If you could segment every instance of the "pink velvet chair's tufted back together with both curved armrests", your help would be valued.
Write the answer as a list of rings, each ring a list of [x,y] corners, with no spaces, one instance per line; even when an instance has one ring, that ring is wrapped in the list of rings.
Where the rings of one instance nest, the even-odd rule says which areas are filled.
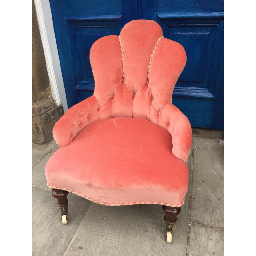
[[[60,147],[86,125],[105,118],[144,118],[172,136],[172,154],[186,162],[191,147],[188,118],[171,104],[173,88],[186,64],[184,48],[163,37],[153,20],[133,20],[120,36],[98,39],[91,48],[94,95],[68,109],[55,124]]]

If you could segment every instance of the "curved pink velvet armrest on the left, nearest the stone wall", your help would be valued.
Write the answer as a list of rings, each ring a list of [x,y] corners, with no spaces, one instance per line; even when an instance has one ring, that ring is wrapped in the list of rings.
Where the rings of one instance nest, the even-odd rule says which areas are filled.
[[[79,102],[59,119],[53,127],[53,138],[60,148],[65,147],[86,125],[99,119],[98,102],[94,95]]]

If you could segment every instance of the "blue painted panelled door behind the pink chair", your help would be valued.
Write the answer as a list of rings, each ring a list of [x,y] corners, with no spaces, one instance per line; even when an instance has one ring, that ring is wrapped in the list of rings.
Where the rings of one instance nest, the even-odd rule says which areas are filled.
[[[223,130],[223,0],[50,0],[50,5],[69,108],[93,94],[92,44],[119,35],[131,20],[150,19],[187,52],[173,104],[193,127]]]

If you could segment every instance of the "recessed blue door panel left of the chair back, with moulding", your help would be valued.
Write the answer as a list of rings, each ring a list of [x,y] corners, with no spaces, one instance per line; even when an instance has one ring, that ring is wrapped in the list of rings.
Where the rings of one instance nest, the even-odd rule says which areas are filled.
[[[94,79],[89,60],[92,44],[102,36],[118,35],[122,28],[121,15],[65,17],[68,44],[74,71],[76,91],[93,91]]]

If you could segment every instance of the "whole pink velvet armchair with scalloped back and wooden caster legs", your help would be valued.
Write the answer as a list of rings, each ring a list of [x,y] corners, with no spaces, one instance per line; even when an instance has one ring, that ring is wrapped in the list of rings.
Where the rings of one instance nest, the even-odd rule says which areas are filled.
[[[159,204],[171,242],[192,141],[188,118],[171,103],[185,50],[155,21],[133,20],[120,36],[98,39],[90,62],[94,94],[55,124],[60,149],[45,167],[62,223],[69,192],[107,206]]]

